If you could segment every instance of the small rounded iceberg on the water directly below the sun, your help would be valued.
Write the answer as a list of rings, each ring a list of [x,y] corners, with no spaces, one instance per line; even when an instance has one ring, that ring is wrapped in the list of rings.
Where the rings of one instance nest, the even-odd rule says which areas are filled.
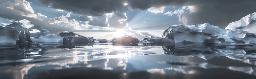
[[[117,44],[134,44],[134,43],[138,43],[138,39],[135,37],[131,37],[129,35],[125,35],[123,37],[119,37],[119,38],[113,38],[113,43],[117,43]]]

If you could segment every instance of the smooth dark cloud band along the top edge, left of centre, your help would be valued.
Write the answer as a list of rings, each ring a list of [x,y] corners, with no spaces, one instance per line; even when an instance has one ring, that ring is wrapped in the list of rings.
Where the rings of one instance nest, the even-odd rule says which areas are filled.
[[[124,6],[124,0],[38,0],[38,2],[55,9],[94,16],[115,11],[128,11]]]

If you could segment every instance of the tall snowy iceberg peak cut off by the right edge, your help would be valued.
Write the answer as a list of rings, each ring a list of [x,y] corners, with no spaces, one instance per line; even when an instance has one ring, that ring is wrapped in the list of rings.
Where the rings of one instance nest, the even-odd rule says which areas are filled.
[[[225,29],[241,29],[243,31],[256,33],[256,12],[230,23]]]

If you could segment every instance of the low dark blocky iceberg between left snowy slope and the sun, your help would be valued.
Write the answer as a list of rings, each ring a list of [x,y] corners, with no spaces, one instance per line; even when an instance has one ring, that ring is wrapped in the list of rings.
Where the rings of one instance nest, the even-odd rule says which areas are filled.
[[[65,31],[58,34],[58,36],[63,38],[63,43],[65,42],[93,42],[92,38],[87,38],[73,32]]]

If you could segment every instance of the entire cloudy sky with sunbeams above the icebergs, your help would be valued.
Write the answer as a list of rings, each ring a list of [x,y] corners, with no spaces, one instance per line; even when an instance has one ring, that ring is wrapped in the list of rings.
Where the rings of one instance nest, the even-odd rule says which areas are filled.
[[[0,16],[27,19],[58,34],[112,39],[161,37],[171,25],[225,28],[256,12],[256,0],[0,0]]]

